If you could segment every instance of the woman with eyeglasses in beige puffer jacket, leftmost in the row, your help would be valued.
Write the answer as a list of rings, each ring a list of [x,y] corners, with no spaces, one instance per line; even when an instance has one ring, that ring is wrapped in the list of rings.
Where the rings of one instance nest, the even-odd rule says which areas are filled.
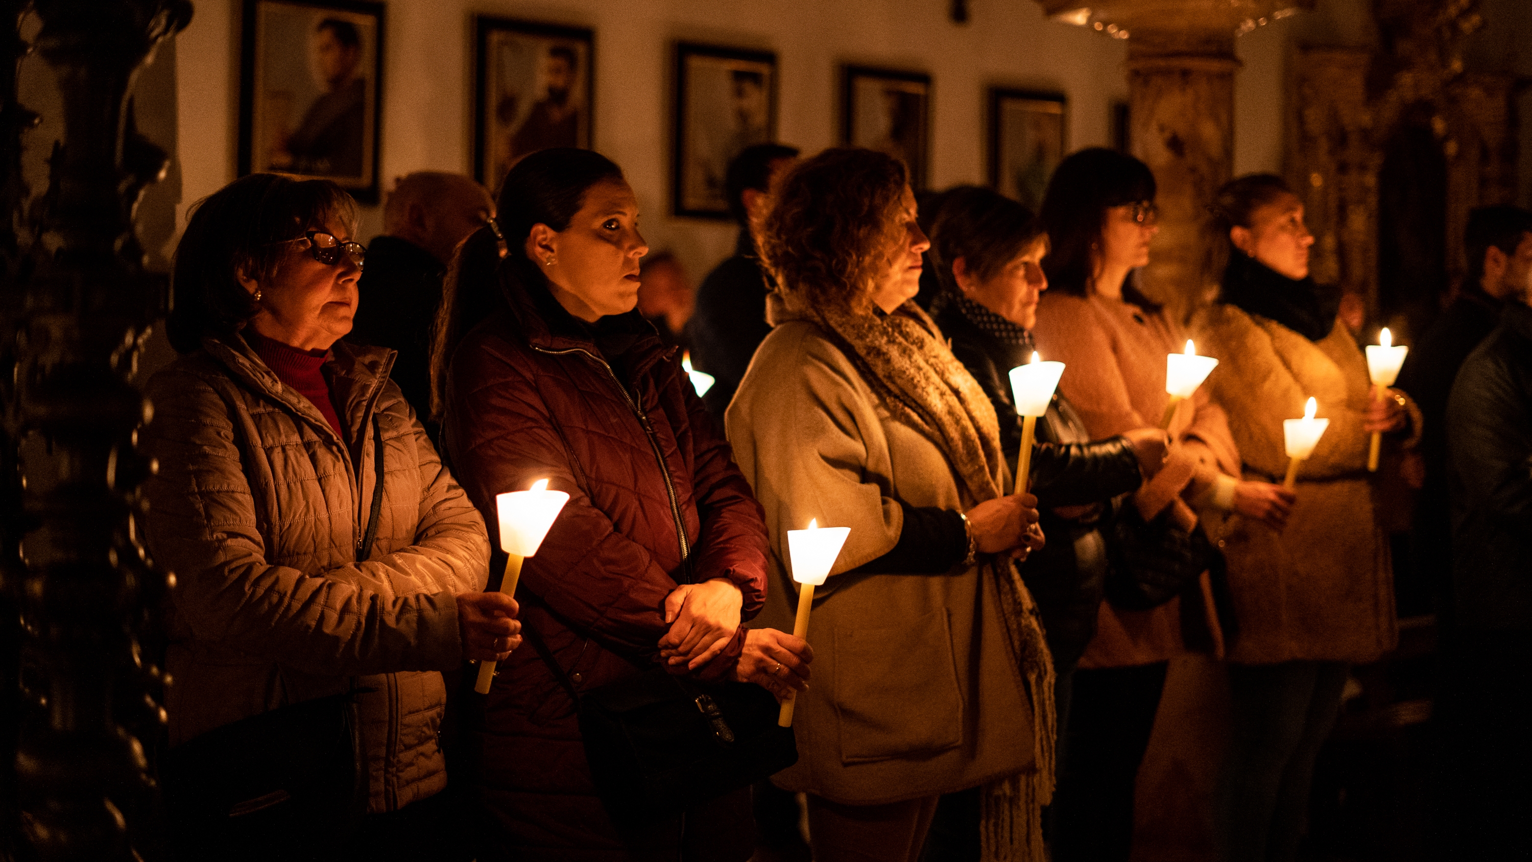
[[[394,351],[339,341],[366,254],[355,225],[336,184],[260,173],[198,204],[176,248],[181,357],[147,387],[159,472],[144,522],[176,576],[167,762],[179,766],[162,778],[185,859],[461,857],[437,828],[440,671],[506,660],[521,642],[516,603],[483,593],[483,519],[389,381]],[[178,758],[237,755],[207,753],[208,740],[296,756],[299,736],[325,729],[273,740],[273,721],[348,692],[360,740],[322,753],[357,764],[365,811],[320,793],[332,821],[316,822],[305,782],[230,805],[221,795],[239,776]],[[351,816],[358,831],[343,828]]]

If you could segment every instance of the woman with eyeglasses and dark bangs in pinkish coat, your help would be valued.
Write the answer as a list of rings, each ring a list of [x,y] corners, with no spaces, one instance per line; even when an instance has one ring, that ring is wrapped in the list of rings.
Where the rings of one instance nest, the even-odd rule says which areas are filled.
[[[1158,233],[1155,181],[1141,161],[1105,149],[1071,155],[1054,171],[1042,220],[1052,250],[1049,289],[1033,334],[1043,358],[1066,364],[1059,392],[1091,438],[1155,426],[1169,397],[1166,354],[1187,334],[1132,283]],[[1204,392],[1170,421],[1166,462],[1123,504],[1149,530],[1200,530],[1200,516],[1236,510],[1279,528],[1293,496],[1239,481],[1239,455],[1223,410]],[[1216,536],[1213,536],[1216,539]],[[1114,573],[1134,577],[1137,573]],[[1170,658],[1218,654],[1223,632],[1204,573],[1152,609],[1102,602],[1097,631],[1074,675],[1069,726],[1054,796],[1054,859],[1129,856],[1134,782],[1154,729]]]

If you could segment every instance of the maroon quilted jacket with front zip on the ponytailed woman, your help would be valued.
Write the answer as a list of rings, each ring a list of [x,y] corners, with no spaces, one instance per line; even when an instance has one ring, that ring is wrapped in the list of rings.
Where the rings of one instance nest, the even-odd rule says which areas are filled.
[[[665,597],[688,565],[691,580],[737,583],[752,619],[766,589],[763,513],[674,349],[636,312],[587,326],[544,288],[506,297],[453,354],[443,449],[489,525],[492,579],[504,565],[495,495],[542,478],[570,493],[521,570],[524,623],[588,691],[651,666],[669,628]],[[699,675],[732,671],[741,646],[743,628]],[[466,724],[469,769],[453,775],[478,804],[480,859],[627,859],[594,796],[574,704],[530,642]],[[748,822],[708,827],[751,833]]]

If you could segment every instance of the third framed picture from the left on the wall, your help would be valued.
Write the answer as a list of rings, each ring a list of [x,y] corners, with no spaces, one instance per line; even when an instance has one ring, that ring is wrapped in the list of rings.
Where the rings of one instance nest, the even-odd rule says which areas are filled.
[[[777,55],[709,44],[676,46],[677,216],[728,219],[723,181],[740,150],[777,138]]]

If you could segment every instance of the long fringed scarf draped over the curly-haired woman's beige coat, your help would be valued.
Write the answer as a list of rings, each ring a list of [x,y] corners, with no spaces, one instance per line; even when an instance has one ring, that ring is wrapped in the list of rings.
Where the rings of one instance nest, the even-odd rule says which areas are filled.
[[[807,320],[835,340],[901,423],[935,442],[974,502],[999,498],[1005,481],[999,423],[988,397],[951,351],[936,323],[913,302],[893,311],[813,305],[778,289],[766,300],[775,326]],[[1013,669],[1026,687],[1036,727],[1037,770],[988,784],[982,796],[984,862],[1045,862],[1042,807],[1054,787],[1054,671],[1042,620],[1013,565],[990,563]]]

